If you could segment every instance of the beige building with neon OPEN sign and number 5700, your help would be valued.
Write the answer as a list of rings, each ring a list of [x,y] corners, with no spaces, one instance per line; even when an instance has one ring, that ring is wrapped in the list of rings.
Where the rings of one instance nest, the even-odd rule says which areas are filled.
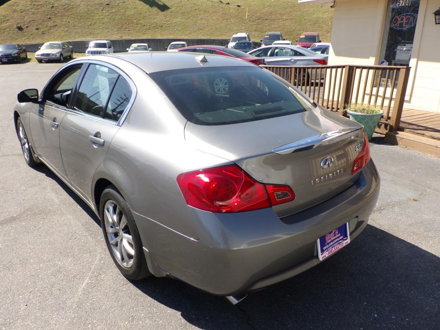
[[[440,0],[299,2],[334,7],[329,65],[411,66],[405,107],[440,112]]]

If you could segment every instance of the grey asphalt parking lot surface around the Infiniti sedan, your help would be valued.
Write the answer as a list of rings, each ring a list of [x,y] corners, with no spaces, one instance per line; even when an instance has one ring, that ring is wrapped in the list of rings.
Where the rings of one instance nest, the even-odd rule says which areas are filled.
[[[438,329],[440,159],[375,138],[381,195],[348,246],[238,305],[182,282],[129,282],[99,219],[23,160],[12,110],[61,63],[0,65],[0,329]]]

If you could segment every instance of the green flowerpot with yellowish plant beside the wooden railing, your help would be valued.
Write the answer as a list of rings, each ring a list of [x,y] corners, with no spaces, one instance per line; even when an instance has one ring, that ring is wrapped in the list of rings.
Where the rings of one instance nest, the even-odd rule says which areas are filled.
[[[381,116],[384,114],[380,106],[365,103],[350,104],[346,106],[345,110],[350,115],[350,119],[363,125],[369,140],[373,136],[374,129],[378,125]]]

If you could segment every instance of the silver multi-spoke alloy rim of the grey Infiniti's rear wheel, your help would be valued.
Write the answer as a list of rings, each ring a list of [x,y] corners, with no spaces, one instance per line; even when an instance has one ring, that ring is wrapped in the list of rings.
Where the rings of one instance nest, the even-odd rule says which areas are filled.
[[[132,267],[135,251],[127,218],[122,209],[111,199],[104,206],[104,224],[117,262],[124,268]]]

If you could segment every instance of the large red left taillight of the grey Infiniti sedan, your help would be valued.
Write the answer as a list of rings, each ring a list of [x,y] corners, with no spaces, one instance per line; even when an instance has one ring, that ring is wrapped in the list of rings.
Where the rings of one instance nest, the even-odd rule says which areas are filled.
[[[188,205],[210,212],[252,211],[295,199],[289,186],[259,183],[237,165],[183,173],[177,184]]]

